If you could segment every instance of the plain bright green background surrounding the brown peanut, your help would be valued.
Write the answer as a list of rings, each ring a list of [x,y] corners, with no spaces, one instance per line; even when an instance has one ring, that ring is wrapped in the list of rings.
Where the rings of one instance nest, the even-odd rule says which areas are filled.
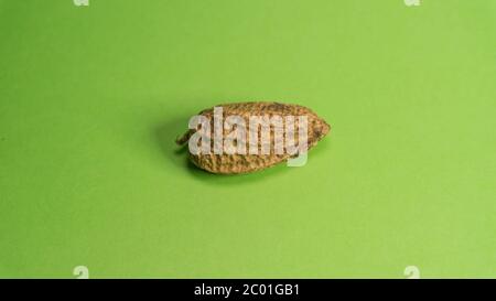
[[[216,176],[218,103],[333,129]],[[0,277],[496,277],[496,1],[0,1]]]

